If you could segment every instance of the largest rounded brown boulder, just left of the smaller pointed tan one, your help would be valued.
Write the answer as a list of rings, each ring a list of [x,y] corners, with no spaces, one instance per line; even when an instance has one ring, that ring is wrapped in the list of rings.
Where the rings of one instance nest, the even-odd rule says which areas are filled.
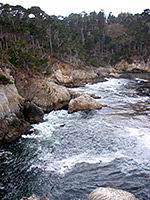
[[[32,102],[44,112],[65,108],[71,99],[67,88],[49,79],[18,74],[16,86],[26,101]]]

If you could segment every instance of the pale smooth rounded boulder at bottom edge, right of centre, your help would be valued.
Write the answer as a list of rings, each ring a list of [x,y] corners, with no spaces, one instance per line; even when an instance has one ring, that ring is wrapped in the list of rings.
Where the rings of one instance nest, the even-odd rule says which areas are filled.
[[[91,192],[87,200],[138,200],[130,192],[114,188],[97,188]]]

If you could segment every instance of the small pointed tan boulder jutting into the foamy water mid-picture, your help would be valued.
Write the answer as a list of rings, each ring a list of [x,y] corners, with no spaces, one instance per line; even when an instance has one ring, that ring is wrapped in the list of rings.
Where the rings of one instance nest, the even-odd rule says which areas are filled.
[[[68,113],[73,113],[80,110],[100,109],[103,105],[87,94],[80,95],[75,99],[71,99],[68,105]]]

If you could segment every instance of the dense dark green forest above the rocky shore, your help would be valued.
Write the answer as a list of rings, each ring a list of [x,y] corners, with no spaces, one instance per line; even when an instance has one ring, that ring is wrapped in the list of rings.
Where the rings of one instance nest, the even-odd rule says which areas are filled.
[[[150,9],[141,14],[49,16],[39,7],[0,3],[0,59],[39,70],[55,59],[74,66],[114,65],[150,56]],[[49,71],[47,71],[48,73]]]

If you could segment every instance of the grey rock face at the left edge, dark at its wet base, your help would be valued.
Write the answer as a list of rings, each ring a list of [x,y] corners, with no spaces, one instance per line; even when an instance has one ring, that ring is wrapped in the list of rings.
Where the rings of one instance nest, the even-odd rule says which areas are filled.
[[[0,85],[0,143],[14,141],[29,127],[22,114],[23,101],[14,84]]]

